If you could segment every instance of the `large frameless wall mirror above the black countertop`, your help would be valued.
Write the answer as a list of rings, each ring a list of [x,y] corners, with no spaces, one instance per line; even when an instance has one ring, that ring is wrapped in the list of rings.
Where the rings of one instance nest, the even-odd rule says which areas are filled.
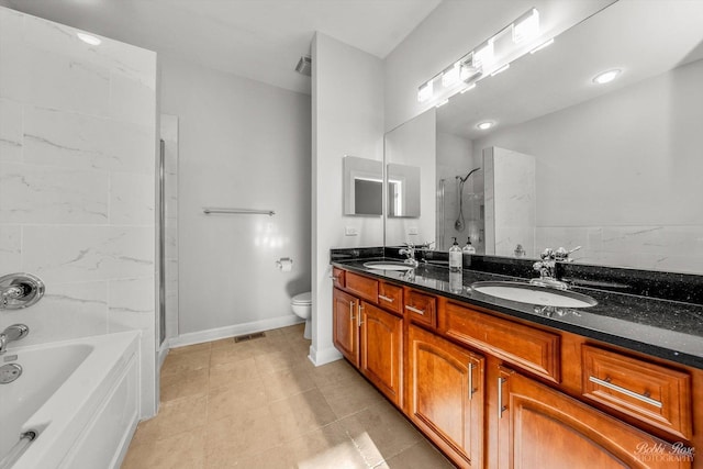
[[[387,219],[386,244],[582,246],[577,263],[703,273],[701,24],[701,1],[617,1],[389,132],[387,163],[419,166],[432,190],[416,230]]]

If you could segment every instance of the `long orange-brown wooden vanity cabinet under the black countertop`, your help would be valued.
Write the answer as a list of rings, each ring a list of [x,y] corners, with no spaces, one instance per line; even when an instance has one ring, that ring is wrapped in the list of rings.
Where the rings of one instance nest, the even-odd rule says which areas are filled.
[[[334,344],[461,468],[703,468],[703,370],[334,267]]]

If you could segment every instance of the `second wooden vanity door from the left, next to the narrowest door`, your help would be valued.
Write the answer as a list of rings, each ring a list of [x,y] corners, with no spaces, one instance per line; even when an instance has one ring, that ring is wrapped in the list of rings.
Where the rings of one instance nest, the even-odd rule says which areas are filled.
[[[361,302],[361,372],[395,405],[401,402],[403,320]]]

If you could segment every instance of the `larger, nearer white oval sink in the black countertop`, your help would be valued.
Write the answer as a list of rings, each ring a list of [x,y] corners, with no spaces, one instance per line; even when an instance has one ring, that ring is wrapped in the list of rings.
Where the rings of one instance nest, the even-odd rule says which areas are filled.
[[[590,308],[598,304],[598,301],[588,294],[538,287],[531,283],[480,281],[471,283],[471,289],[490,297],[502,298],[503,300],[545,306]]]

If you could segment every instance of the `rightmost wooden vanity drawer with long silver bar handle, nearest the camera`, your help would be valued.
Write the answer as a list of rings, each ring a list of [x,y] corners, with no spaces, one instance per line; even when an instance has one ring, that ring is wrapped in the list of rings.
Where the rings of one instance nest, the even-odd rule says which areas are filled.
[[[691,437],[688,373],[590,345],[581,350],[583,397],[678,436]]]

